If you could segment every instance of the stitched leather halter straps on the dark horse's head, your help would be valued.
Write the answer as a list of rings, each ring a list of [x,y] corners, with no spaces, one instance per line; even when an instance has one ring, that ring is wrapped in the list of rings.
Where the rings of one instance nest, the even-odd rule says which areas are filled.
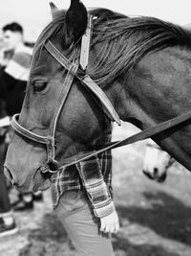
[[[110,103],[109,99],[107,98],[105,93],[98,87],[96,82],[93,81],[83,71],[86,69],[86,66],[88,64],[91,30],[92,30],[92,16],[89,17],[86,33],[82,37],[81,54],[80,54],[79,63],[77,62],[77,60],[74,60],[72,62],[69,59],[65,58],[50,40],[47,40],[44,43],[45,49],[53,56],[53,58],[56,61],[58,61],[68,71],[64,81],[64,85],[62,87],[62,91],[59,95],[59,98],[55,102],[53,118],[50,124],[48,135],[41,136],[21,126],[18,123],[19,114],[15,114],[11,120],[11,127],[14,128],[14,130],[17,131],[20,135],[27,137],[32,141],[45,144],[47,146],[48,164],[51,167],[51,171],[53,172],[57,170],[57,162],[55,161],[55,130],[56,130],[56,126],[57,126],[57,122],[58,122],[61,110],[65,105],[65,102],[70,93],[70,90],[74,81],[74,77],[78,81],[81,81],[81,84],[83,84],[88,90],[91,90],[93,94],[96,95],[98,99],[98,101],[96,100],[97,104],[101,105],[101,108],[103,108],[102,110],[110,118],[110,120],[116,121],[117,124],[120,125],[120,119],[117,115],[117,112],[114,106]]]

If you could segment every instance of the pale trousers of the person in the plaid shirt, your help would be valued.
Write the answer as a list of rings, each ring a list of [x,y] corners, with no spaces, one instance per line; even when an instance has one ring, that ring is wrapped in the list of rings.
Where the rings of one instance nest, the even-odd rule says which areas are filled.
[[[82,191],[67,191],[54,210],[65,227],[78,256],[114,256],[111,239],[99,232],[99,219]]]

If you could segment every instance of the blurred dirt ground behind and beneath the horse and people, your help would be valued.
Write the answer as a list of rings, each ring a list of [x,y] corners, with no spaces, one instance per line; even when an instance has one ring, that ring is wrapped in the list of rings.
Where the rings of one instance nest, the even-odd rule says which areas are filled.
[[[115,139],[138,129],[115,128]],[[113,151],[114,191],[120,231],[116,256],[191,255],[191,174],[172,166],[161,184],[142,175],[145,142]],[[15,193],[15,192],[14,192]],[[0,256],[77,256],[53,215],[50,191],[32,211],[15,213],[18,234],[0,239]]]

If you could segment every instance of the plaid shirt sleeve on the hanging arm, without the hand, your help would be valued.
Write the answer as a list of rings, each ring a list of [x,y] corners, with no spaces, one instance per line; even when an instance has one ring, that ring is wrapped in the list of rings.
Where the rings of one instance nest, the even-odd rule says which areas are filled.
[[[99,159],[94,156],[76,165],[82,184],[97,218],[113,213],[115,205],[101,173]]]

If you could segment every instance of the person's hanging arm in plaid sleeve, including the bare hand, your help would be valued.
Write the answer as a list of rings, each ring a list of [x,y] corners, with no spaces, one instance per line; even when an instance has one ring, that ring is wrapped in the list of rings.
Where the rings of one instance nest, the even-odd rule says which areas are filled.
[[[94,214],[100,219],[100,231],[117,233],[119,228],[117,212],[104,182],[98,157],[80,162],[77,169]]]

